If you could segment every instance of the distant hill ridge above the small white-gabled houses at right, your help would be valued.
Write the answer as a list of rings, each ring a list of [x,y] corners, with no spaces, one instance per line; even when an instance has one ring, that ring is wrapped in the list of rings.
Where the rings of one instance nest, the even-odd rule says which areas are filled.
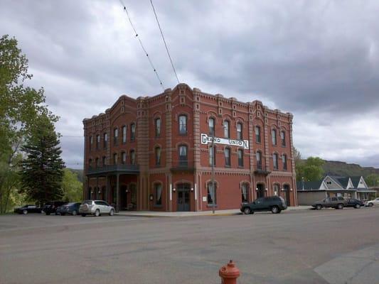
[[[361,167],[357,164],[348,164],[338,160],[325,160],[324,164],[325,175],[338,175],[343,177],[363,176],[366,177],[370,173],[379,175],[379,169],[373,167]]]

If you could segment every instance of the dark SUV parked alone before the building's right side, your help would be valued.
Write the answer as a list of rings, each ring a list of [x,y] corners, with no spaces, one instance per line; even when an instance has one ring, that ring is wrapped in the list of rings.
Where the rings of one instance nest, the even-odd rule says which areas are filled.
[[[242,203],[240,210],[245,214],[253,214],[255,211],[271,211],[273,214],[278,214],[285,209],[287,204],[282,197],[269,196],[258,198],[251,203]]]

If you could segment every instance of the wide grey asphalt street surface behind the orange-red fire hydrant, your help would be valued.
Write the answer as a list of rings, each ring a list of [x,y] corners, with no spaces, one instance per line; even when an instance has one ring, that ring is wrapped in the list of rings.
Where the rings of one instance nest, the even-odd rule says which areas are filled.
[[[0,283],[220,283],[218,269],[229,259],[239,283],[375,283],[378,219],[379,207],[230,217],[5,215]]]

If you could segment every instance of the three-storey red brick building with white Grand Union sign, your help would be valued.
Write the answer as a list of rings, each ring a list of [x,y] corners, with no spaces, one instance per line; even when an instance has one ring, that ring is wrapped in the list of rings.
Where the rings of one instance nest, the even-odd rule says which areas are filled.
[[[85,199],[159,211],[211,210],[213,198],[216,209],[236,209],[269,195],[297,205],[292,114],[260,101],[178,84],[154,97],[123,95],[83,124]]]

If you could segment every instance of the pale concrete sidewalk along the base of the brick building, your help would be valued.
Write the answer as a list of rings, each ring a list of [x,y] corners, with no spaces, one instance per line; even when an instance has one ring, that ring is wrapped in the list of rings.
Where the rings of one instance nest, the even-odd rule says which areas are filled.
[[[292,210],[309,210],[310,206],[288,207],[286,211]],[[233,216],[240,215],[240,209],[216,210],[215,214],[212,211],[197,211],[197,212],[159,212],[159,211],[120,211],[119,216],[139,216],[139,217],[194,217],[194,216]]]

